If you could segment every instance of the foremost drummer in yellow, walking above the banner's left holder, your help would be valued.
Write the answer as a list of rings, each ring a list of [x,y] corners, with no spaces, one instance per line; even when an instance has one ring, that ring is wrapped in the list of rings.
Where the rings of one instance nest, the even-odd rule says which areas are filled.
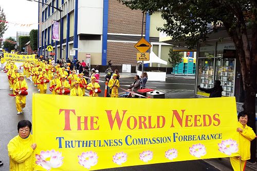
[[[18,111],[17,115],[19,115],[22,113],[22,110],[25,108],[26,105],[26,96],[21,92],[25,92],[28,90],[28,85],[27,82],[24,80],[23,74],[20,74],[20,80],[15,83],[13,88],[16,94],[16,108]]]

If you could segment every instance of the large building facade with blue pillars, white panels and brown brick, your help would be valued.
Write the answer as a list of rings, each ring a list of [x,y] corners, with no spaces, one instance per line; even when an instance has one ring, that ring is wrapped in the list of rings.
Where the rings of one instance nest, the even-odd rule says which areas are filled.
[[[168,61],[170,45],[159,42],[156,29],[164,24],[159,13],[151,17],[143,15],[141,11],[131,10],[116,0],[41,2],[63,12],[39,3],[39,55],[48,56],[50,52],[46,48],[51,45],[57,59],[84,60],[86,54],[90,54],[91,65],[105,66],[109,60],[113,65],[136,65],[138,51],[134,45],[143,36],[150,41],[151,50]],[[51,38],[54,20],[61,21],[60,41]],[[70,55],[73,48],[79,49],[75,56]]]

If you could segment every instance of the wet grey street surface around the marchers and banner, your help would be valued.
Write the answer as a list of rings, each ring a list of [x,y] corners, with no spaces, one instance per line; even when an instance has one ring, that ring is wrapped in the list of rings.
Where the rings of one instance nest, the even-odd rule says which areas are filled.
[[[104,74],[100,79],[104,80]],[[122,74],[120,78],[121,87],[127,89],[128,86],[133,82],[133,76],[135,74]],[[0,166],[0,171],[9,170],[9,157],[7,152],[7,144],[14,136],[17,135],[17,122],[22,119],[31,120],[32,114],[32,94],[38,93],[37,89],[33,86],[33,83],[26,79],[28,83],[28,96],[26,108],[24,110],[24,114],[17,115],[16,106],[15,106],[15,98],[9,96],[12,91],[9,90],[8,79],[6,73],[0,72],[0,106],[1,106],[1,132],[0,132],[0,160],[3,160],[4,165]],[[101,87],[104,88],[104,83],[100,83]],[[154,82],[149,81],[146,84],[146,87],[151,87],[152,89],[162,91],[166,93],[166,98],[193,98],[194,95],[194,78],[192,77],[168,77],[166,81],[162,82]],[[103,90],[102,90],[103,91]],[[50,92],[48,91],[48,94]],[[124,93],[124,92],[120,92]],[[101,93],[103,96],[103,93]],[[33,132],[33,128],[32,128]],[[222,164],[222,163],[227,164]],[[114,171],[114,170],[154,170],[154,171],[162,171],[162,170],[192,170],[192,171],[201,171],[201,170],[210,170],[210,171],[230,171],[232,170],[228,159],[222,159],[222,161],[218,159],[210,159],[210,160],[194,160],[194,161],[181,161],[181,162],[170,162],[170,163],[159,163],[159,164],[151,164],[151,165],[141,165],[141,166],[130,166],[130,167],[121,167],[121,168],[110,168],[103,169],[106,171]],[[250,169],[246,169],[250,170]]]

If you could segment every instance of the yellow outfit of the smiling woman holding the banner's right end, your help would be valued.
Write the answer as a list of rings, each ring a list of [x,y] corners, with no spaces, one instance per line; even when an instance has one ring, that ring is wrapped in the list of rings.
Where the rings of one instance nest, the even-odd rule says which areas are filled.
[[[240,127],[243,132],[239,134],[239,155],[241,156],[241,161],[237,157],[230,157],[231,165],[234,171],[242,171],[245,167],[246,160],[250,159],[250,144],[256,135],[253,132],[252,128],[238,121],[238,127]],[[240,170],[241,168],[241,170]]]

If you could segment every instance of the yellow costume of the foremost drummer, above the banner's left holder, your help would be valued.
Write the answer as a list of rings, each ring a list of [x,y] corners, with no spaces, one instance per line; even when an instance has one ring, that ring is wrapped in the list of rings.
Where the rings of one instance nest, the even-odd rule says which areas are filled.
[[[28,89],[27,82],[25,80],[23,81],[17,81],[14,85],[14,90],[21,90],[22,88]],[[17,94],[16,95],[16,108],[18,112],[22,112],[22,108],[25,108],[26,105],[26,96]]]

